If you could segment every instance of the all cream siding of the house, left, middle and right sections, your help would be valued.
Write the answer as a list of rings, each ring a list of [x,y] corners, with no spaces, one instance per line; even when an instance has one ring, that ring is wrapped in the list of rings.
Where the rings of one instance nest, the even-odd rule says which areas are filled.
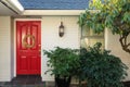
[[[20,18],[20,21],[25,18]],[[28,20],[28,18],[27,18]],[[26,21],[27,21],[26,20]],[[34,18],[31,18],[34,21]],[[65,26],[65,35],[58,36],[58,26],[63,22]],[[78,16],[42,16],[41,18],[41,52],[50,50],[54,47],[79,48],[80,47],[80,29],[77,24]],[[13,26],[13,25],[12,25]],[[15,29],[11,29],[11,17],[0,16],[0,82],[11,80],[16,75],[16,58],[15,58]],[[130,54],[122,51],[118,41],[119,36],[113,35],[109,30],[105,32],[105,48],[112,50],[112,53],[119,57],[123,63],[130,67]],[[14,46],[14,47],[13,47]],[[41,53],[41,76],[42,80],[54,80],[53,76],[44,74],[48,70],[48,58]],[[128,77],[130,80],[130,70]]]

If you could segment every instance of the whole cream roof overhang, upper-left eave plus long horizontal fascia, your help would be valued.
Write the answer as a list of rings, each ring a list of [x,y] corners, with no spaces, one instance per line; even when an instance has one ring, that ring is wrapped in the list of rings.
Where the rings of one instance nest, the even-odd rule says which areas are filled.
[[[84,10],[24,10],[18,0],[0,0],[0,15],[80,15]]]

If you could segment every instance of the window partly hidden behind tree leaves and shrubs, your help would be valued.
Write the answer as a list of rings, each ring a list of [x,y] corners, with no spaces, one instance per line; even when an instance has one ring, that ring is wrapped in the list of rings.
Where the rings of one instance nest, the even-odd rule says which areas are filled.
[[[81,47],[87,48],[88,46],[92,47],[96,42],[102,44],[102,48],[104,48],[104,33],[94,34],[92,29],[82,27],[81,29]]]

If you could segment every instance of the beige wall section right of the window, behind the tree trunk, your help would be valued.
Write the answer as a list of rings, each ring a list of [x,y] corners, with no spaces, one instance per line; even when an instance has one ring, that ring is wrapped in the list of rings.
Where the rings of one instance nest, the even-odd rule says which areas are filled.
[[[130,42],[130,36],[128,38]],[[119,35],[113,35],[108,29],[105,30],[105,48],[112,50],[112,53],[119,57],[121,61],[130,67],[130,54],[121,49]],[[130,80],[130,69],[126,80]]]

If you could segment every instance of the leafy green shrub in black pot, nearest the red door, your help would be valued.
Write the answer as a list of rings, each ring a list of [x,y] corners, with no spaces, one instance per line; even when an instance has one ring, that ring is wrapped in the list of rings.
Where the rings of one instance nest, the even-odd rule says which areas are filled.
[[[78,50],[56,47],[54,50],[43,52],[49,58],[48,66],[51,67],[47,73],[51,72],[55,76],[56,86],[69,87],[72,76],[79,66]]]

